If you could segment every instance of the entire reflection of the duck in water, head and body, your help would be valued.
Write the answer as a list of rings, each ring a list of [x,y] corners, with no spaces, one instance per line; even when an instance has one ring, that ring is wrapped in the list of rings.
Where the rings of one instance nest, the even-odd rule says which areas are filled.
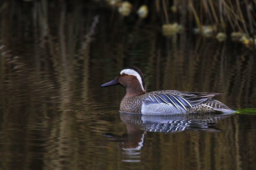
[[[228,115],[216,115],[214,113],[142,115],[121,112],[120,118],[126,124],[127,134],[118,136],[113,133],[103,133],[103,135],[113,137],[113,141],[120,142],[119,147],[124,150],[124,155],[126,155],[123,161],[139,162],[147,131],[163,133],[180,131],[223,132],[214,125],[226,117]]]

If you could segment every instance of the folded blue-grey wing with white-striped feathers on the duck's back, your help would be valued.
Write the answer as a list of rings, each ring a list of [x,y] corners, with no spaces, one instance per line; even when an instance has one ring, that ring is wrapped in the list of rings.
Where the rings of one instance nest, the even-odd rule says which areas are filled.
[[[146,104],[165,103],[176,108],[193,107],[203,101],[223,93],[200,93],[200,92],[181,92],[181,91],[157,91],[149,92],[140,100]]]

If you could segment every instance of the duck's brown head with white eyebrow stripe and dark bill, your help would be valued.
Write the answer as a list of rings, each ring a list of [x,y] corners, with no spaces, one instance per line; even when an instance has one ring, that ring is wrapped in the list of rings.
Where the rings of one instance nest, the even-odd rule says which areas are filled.
[[[134,66],[125,67],[114,80],[101,85],[101,87],[111,85],[121,85],[124,87],[126,89],[126,97],[146,93],[143,74],[140,69]]]

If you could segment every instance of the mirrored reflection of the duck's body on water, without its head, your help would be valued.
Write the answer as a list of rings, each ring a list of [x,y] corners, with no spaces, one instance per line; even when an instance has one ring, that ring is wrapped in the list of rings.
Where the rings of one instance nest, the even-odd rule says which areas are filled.
[[[177,131],[212,131],[220,132],[212,123],[228,115],[215,115],[214,113],[193,113],[177,115],[142,115],[120,113],[121,120],[127,125],[127,131],[130,129],[139,129],[150,132],[171,133]]]

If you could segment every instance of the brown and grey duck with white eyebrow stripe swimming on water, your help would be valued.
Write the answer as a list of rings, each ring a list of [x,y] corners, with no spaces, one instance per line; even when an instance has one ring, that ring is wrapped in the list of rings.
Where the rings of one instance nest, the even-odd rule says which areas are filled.
[[[139,68],[125,67],[112,81],[101,85],[121,85],[126,94],[120,103],[120,112],[147,115],[174,115],[206,112],[235,112],[212,97],[224,92],[183,92],[161,90],[146,92],[144,76]]]

